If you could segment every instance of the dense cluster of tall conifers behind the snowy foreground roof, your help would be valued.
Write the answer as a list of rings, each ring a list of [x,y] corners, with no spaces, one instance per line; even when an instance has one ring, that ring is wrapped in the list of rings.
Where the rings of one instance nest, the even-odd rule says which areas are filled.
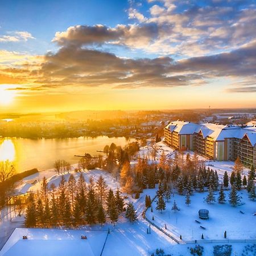
[[[106,218],[114,224],[123,210],[120,191],[109,189],[102,176],[89,184],[82,174],[77,181],[72,174],[68,181],[62,176],[58,188],[53,183],[49,188],[44,178],[41,190],[28,196],[26,226],[102,225]]]

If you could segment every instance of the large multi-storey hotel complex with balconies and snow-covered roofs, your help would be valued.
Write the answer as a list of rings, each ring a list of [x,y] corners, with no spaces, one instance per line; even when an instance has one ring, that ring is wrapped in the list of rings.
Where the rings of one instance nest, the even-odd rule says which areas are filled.
[[[197,124],[174,121],[164,128],[164,141],[176,150],[192,150],[214,160],[256,166],[256,125]]]

